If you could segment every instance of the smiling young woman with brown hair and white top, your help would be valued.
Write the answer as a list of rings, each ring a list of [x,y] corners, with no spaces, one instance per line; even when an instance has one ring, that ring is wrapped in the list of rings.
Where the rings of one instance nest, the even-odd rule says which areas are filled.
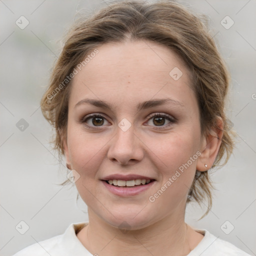
[[[15,255],[248,255],[184,221],[191,200],[210,209],[207,171],[232,151],[228,82],[202,22],[171,1],[77,22],[41,109],[89,222]]]

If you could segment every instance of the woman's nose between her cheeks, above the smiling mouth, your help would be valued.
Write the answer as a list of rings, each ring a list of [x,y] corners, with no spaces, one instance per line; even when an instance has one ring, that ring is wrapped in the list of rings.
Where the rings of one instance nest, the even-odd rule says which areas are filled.
[[[133,125],[126,131],[118,127],[111,139],[107,157],[122,165],[138,162],[144,155],[142,144],[138,135],[134,133]]]

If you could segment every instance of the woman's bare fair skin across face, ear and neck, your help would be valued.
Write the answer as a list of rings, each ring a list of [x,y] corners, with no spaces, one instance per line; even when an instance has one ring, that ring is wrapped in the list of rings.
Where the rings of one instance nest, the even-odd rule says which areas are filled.
[[[87,204],[89,224],[77,234],[92,254],[98,255],[186,255],[203,238],[184,222],[185,205],[195,170],[213,164],[222,137],[220,129],[202,136],[199,109],[191,89],[190,72],[173,51],[151,41],[106,43],[74,77],[68,102],[65,157],[80,177],[77,190]],[[169,72],[178,67],[178,80]],[[77,102],[84,98],[108,102],[111,109]],[[150,99],[171,98],[177,103],[137,110]],[[100,125],[90,113],[100,113]],[[163,125],[150,114],[166,114]],[[126,131],[118,123],[126,118]],[[91,128],[85,126],[89,125]],[[160,129],[160,128],[162,129]],[[201,154],[157,198],[148,200],[175,171],[199,151]],[[205,168],[204,164],[207,164]],[[140,174],[156,179],[140,194],[121,197],[109,192],[102,177]],[[129,230],[120,224],[126,221]],[[126,249],[125,249],[126,248]]]

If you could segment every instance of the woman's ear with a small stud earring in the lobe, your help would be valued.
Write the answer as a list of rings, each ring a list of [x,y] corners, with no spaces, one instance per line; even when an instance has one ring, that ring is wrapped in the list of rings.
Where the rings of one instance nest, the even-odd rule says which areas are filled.
[[[210,131],[206,136],[202,137],[200,156],[196,163],[196,169],[199,171],[205,171],[210,169],[212,166],[223,136],[223,120],[221,117],[217,117],[215,120],[216,126],[211,127]],[[207,166],[205,166],[205,164]]]

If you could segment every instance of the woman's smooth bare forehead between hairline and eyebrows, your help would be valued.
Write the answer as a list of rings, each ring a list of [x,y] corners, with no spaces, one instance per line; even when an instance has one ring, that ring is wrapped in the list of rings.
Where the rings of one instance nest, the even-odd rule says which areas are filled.
[[[189,70],[182,59],[164,45],[125,41],[103,44],[97,51],[88,53],[86,64],[77,69],[70,100],[90,96],[132,102],[148,100],[156,94],[157,98],[168,94],[178,100],[182,93],[191,94]]]

